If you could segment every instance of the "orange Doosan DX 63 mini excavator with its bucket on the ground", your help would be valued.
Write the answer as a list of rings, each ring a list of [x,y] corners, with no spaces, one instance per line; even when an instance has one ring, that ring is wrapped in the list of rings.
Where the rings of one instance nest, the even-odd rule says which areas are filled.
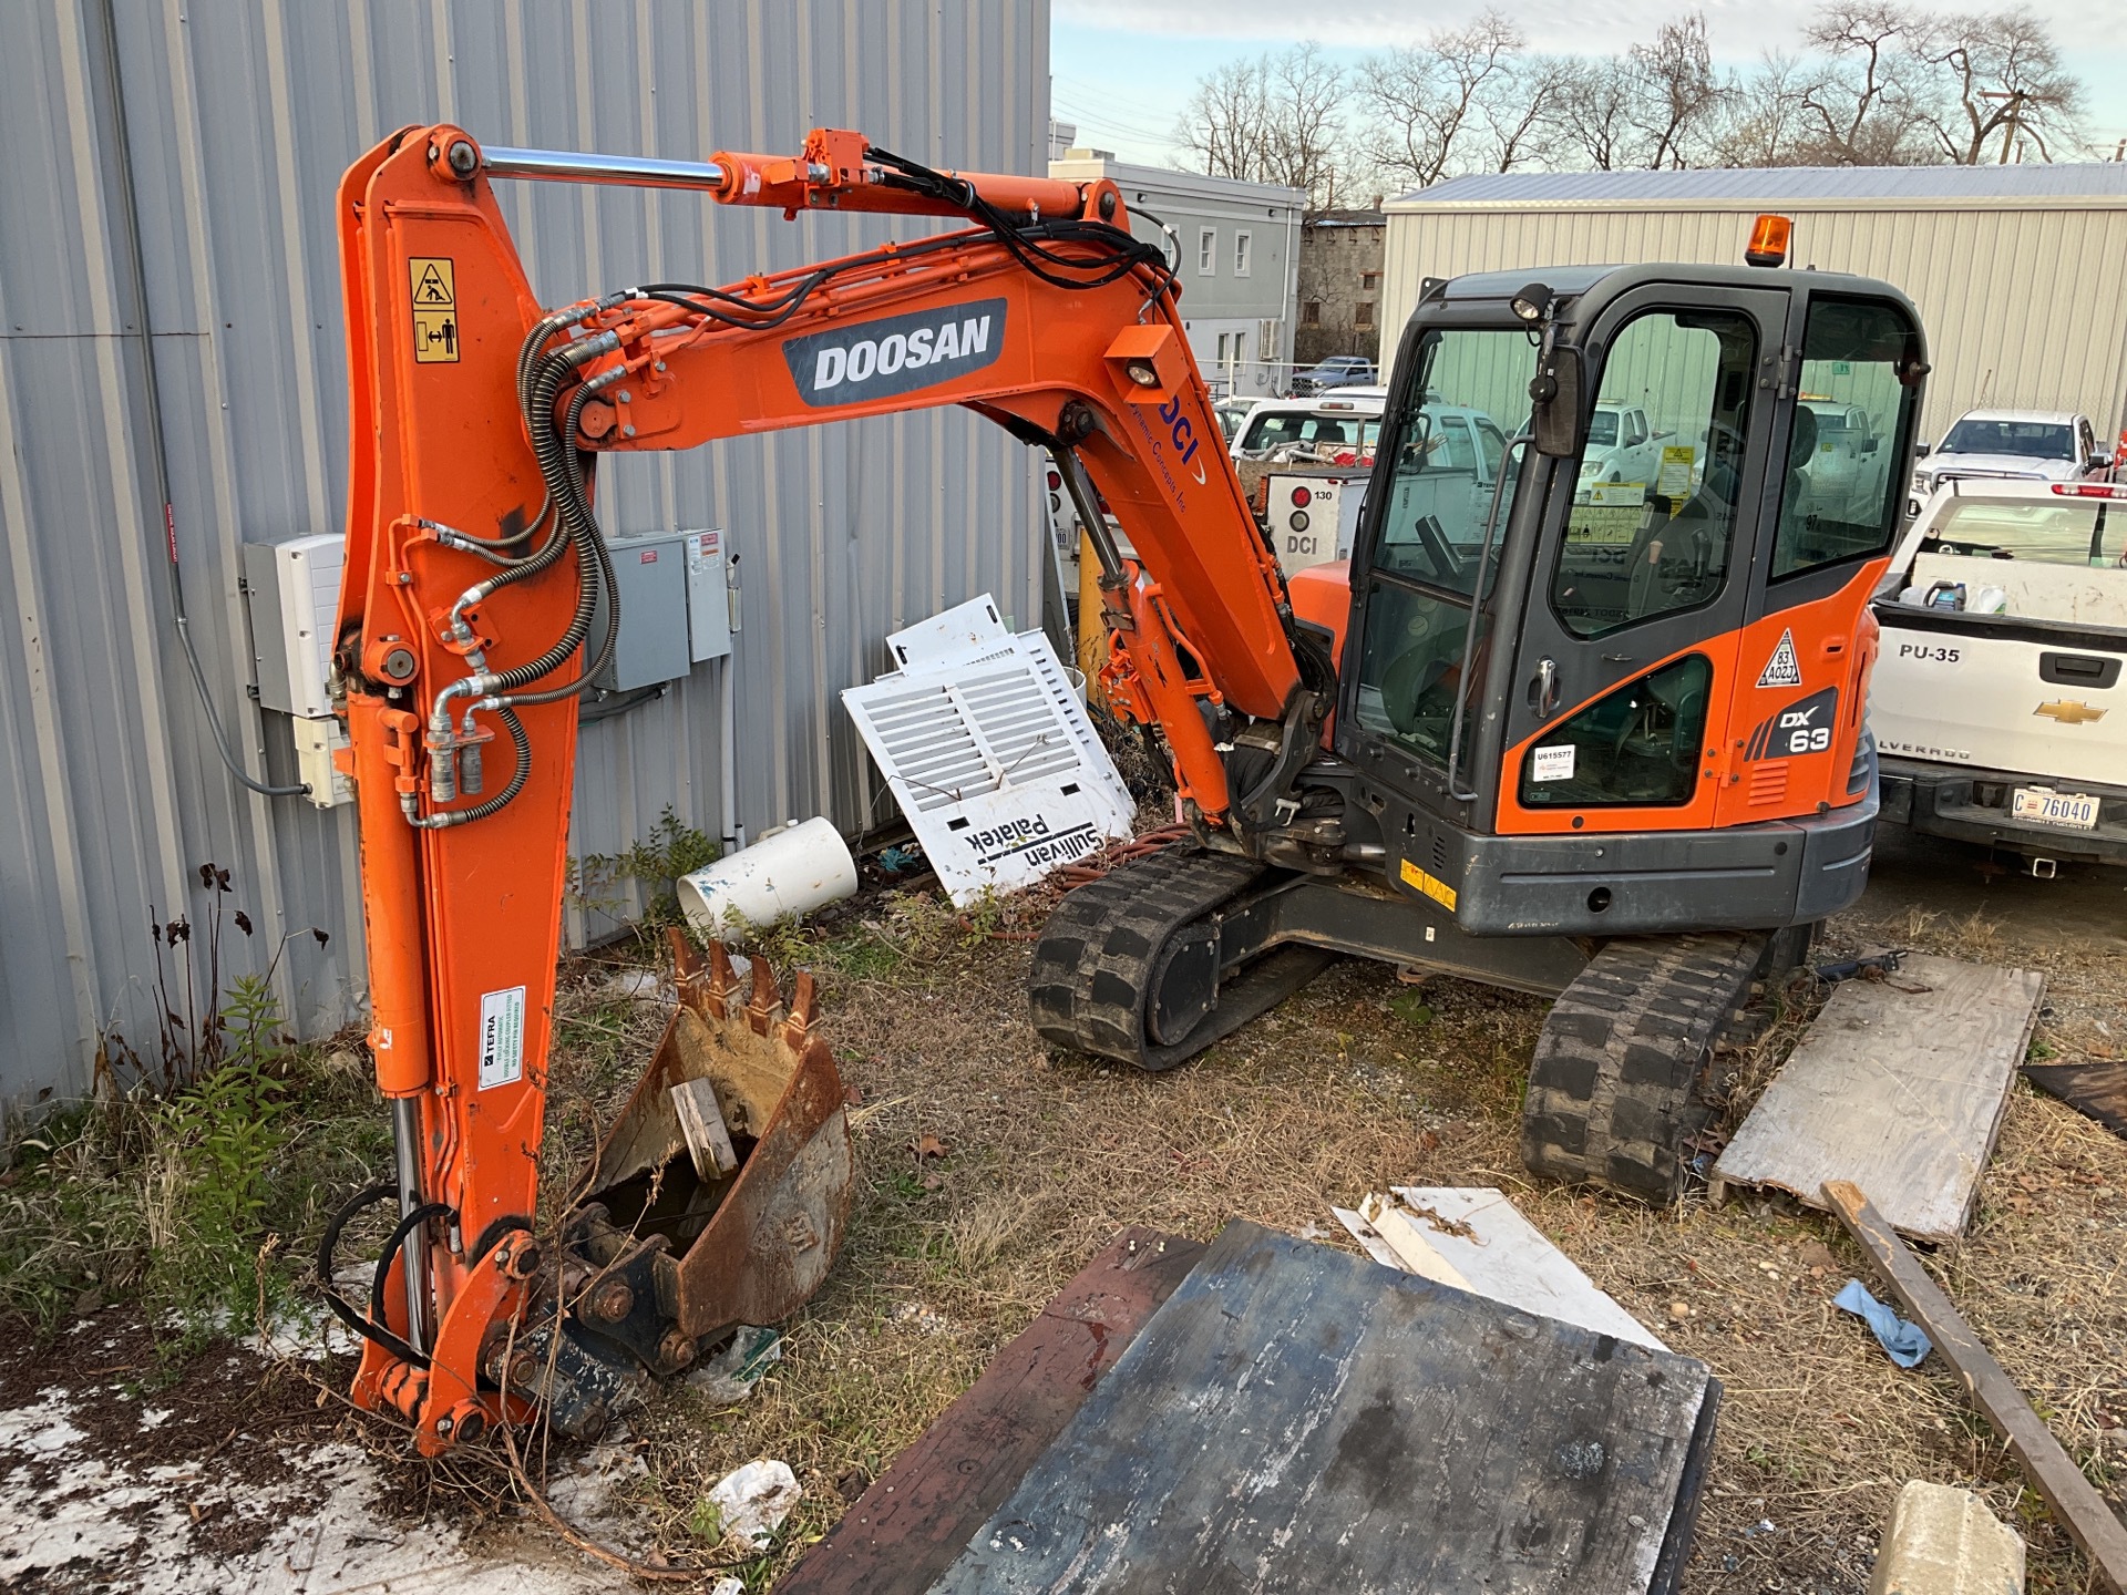
[[[500,179],[972,225],[549,310]],[[964,404],[1051,455],[1100,561],[1108,698],[1157,727],[1195,834],[1053,914],[1029,1000],[1057,1046],[1170,1068],[1336,955],[1542,993],[1529,1165],[1661,1199],[1751,980],[1863,887],[1868,598],[1927,370],[1882,283],[1429,281],[1351,559],[1287,581],[1219,447],[1176,266],[1112,183],[940,172],[834,130],[793,157],[653,162],[436,125],[364,155],[338,217],[334,661],[398,1178],[342,1210],[321,1265],[396,1199],[366,1310],[336,1306],[366,1342],[357,1399],[428,1450],[534,1406],[596,1429],[630,1378],[800,1304],[847,1219],[810,989],[785,1002],[713,948],[683,957],[587,1199],[534,1238],[574,698],[619,623],[602,453]],[[1868,440],[1819,419],[1853,406]]]

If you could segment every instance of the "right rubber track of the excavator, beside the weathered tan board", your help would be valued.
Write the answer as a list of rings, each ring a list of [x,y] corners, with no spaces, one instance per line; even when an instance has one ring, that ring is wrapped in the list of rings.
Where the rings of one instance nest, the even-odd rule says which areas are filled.
[[[1765,953],[1765,936],[1623,938],[1574,976],[1536,1040],[1521,1161],[1538,1174],[1672,1202],[1702,1087]]]

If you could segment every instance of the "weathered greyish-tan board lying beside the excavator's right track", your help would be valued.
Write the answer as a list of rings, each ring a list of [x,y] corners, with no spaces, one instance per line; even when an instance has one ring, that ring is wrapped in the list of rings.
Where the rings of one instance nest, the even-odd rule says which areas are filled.
[[[1825,1180],[1865,1180],[1921,1240],[1955,1240],[2002,1134],[2046,976],[1921,953],[1848,980],[1714,1163],[1725,1185],[1776,1185],[1823,1206]]]

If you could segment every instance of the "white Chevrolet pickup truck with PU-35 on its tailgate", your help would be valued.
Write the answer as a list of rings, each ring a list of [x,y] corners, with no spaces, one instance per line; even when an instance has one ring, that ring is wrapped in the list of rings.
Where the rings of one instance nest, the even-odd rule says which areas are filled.
[[[1874,615],[1882,819],[2127,863],[2127,485],[1946,481]]]

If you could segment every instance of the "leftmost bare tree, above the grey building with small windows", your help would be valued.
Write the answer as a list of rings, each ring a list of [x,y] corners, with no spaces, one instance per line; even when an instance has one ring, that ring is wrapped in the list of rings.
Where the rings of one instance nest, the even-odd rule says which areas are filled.
[[[1310,204],[1329,206],[1344,98],[1342,68],[1314,43],[1293,45],[1198,79],[1174,138],[1212,177],[1306,189]]]

